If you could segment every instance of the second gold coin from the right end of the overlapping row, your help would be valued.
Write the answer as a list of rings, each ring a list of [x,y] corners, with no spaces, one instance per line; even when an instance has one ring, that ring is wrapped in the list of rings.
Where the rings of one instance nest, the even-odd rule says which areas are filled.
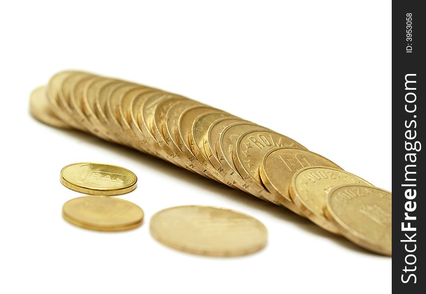
[[[336,225],[324,215],[327,194],[333,187],[345,184],[373,186],[355,174],[330,167],[307,167],[293,175],[289,192],[303,215],[323,229],[339,234]]]

